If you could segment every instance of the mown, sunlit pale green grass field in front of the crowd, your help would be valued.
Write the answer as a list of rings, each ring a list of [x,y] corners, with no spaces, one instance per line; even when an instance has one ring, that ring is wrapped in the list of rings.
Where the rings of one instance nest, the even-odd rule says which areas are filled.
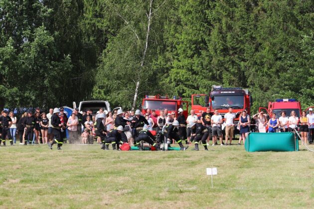
[[[313,146],[311,146],[313,147]],[[0,208],[313,208],[314,153],[0,147]],[[217,167],[214,188],[207,167]]]

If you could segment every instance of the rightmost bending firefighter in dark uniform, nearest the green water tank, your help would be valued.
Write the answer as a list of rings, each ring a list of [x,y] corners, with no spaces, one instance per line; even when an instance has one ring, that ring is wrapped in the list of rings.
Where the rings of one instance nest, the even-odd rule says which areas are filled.
[[[204,146],[204,149],[208,151],[207,149],[207,142],[206,139],[209,135],[208,128],[202,124],[200,120],[197,121],[197,123],[190,123],[190,128],[192,129],[191,133],[191,142],[194,142],[195,148],[193,150],[199,150],[198,143],[199,141],[202,142],[202,145]]]

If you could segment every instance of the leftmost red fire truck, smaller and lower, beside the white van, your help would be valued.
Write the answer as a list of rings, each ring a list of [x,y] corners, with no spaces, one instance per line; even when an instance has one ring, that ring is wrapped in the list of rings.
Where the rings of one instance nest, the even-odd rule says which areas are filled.
[[[157,115],[160,115],[160,111],[163,109],[168,109],[168,113],[171,113],[172,111],[175,112],[175,115],[178,115],[178,109],[183,109],[183,115],[185,118],[188,115],[188,102],[182,101],[181,99],[176,99],[173,97],[173,99],[169,99],[168,96],[149,96],[146,95],[142,102],[142,112],[145,113],[146,109],[155,109]],[[166,115],[165,115],[166,116]]]

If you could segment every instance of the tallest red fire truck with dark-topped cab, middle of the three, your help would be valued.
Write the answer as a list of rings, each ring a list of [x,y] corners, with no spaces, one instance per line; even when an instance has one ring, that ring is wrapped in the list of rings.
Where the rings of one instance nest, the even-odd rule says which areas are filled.
[[[233,112],[236,113],[236,120],[244,109],[250,114],[252,104],[252,97],[247,89],[223,88],[215,85],[209,95],[192,95],[191,99],[195,114],[200,114],[201,110],[206,111],[206,107],[209,106],[212,112],[214,109],[218,109],[223,117],[228,112],[228,108],[232,106]]]

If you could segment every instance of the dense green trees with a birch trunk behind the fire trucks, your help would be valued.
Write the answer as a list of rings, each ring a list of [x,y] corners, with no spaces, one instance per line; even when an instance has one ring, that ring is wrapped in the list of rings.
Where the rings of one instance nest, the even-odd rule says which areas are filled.
[[[314,100],[312,0],[0,0],[0,27],[0,106],[131,108],[137,82],[139,98],[248,88],[253,110]]]

